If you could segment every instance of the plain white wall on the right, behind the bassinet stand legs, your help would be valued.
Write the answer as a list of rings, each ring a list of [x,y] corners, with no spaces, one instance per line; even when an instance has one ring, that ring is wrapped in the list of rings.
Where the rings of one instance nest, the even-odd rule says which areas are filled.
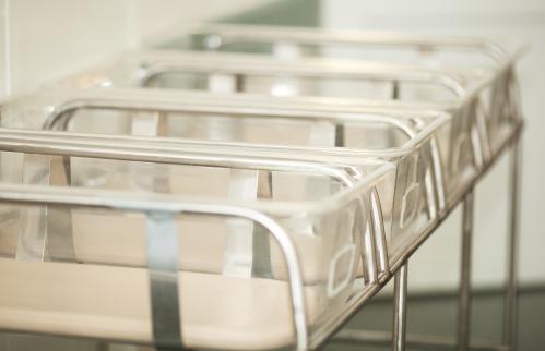
[[[531,51],[519,64],[523,110],[524,174],[522,193],[521,279],[545,282],[545,1],[351,1],[322,0],[322,23],[336,28],[368,28],[431,34],[514,35],[528,39]],[[507,159],[476,192],[474,281],[498,285],[506,271]],[[412,259],[414,289],[451,288],[459,274],[461,210]]]

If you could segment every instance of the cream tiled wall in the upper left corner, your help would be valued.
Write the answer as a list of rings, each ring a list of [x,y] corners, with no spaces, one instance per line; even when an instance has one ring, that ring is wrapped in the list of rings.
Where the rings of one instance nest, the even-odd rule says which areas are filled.
[[[73,73],[170,26],[190,25],[265,2],[0,0],[0,94],[27,90]]]

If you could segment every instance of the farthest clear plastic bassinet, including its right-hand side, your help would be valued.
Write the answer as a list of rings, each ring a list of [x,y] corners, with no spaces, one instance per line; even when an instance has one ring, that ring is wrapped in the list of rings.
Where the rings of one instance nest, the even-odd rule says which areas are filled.
[[[526,45],[513,37],[206,24],[173,32],[150,45],[170,50],[261,53],[292,62],[322,57],[408,63],[446,71],[485,70],[493,80],[491,88],[482,94],[479,113],[491,114],[486,119],[491,155],[502,145],[503,140],[498,141],[497,135],[501,133],[498,129],[507,125],[505,120],[521,119],[516,64]]]

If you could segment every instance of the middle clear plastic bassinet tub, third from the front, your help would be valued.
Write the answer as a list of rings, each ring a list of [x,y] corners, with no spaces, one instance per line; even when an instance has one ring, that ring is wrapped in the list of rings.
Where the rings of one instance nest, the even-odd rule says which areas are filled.
[[[396,167],[395,186],[378,187],[377,196],[386,227],[387,261],[392,265],[406,257],[407,247],[435,226],[445,203],[437,138],[452,126],[451,119],[437,112],[379,108],[342,113],[273,110],[259,105],[229,107],[199,101],[177,92],[86,89],[21,98],[5,104],[2,113],[3,125],[10,128],[158,135],[164,138],[157,141],[166,144],[206,140],[217,147],[260,153],[308,153],[391,162]],[[147,182],[162,183],[157,179]],[[238,196],[256,197],[264,192],[274,199],[270,190],[274,189],[274,178],[266,172],[241,173],[230,182]],[[379,269],[388,274],[388,262],[381,262]]]

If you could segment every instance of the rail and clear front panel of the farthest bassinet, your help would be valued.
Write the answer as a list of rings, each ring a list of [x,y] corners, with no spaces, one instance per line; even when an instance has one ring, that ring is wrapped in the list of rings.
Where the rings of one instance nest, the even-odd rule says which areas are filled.
[[[171,31],[168,37],[155,38],[149,46],[161,49],[261,53],[280,60],[322,57],[428,66],[488,66],[498,71],[514,64],[525,48],[520,40],[512,37],[486,38],[239,24],[185,27],[182,31]]]

